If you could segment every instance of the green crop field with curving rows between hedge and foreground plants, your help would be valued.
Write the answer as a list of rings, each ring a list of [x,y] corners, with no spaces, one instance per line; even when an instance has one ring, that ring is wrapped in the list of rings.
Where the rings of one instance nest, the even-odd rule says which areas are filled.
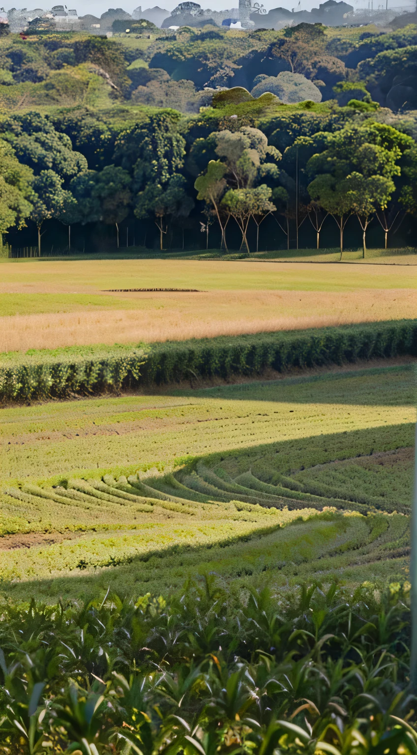
[[[2,409],[2,591],[406,579],[412,365]]]

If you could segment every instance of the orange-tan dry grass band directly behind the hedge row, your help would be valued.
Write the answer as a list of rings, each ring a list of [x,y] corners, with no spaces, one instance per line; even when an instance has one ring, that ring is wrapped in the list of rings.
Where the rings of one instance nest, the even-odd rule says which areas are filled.
[[[415,291],[395,288],[118,295],[130,297],[132,309],[4,317],[0,319],[0,350],[182,341],[412,318],[416,304]]]

